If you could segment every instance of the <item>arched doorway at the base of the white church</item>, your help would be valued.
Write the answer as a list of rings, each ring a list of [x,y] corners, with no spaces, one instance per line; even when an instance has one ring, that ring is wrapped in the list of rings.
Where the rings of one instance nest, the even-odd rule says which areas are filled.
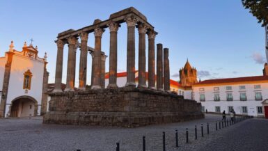
[[[36,116],[38,103],[33,97],[22,96],[15,98],[15,100],[12,101],[10,108],[11,118]]]

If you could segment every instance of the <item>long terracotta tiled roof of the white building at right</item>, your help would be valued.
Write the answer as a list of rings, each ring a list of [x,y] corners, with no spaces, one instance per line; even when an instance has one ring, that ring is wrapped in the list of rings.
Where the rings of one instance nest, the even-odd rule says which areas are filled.
[[[194,85],[200,84],[223,84],[231,82],[247,82],[247,81],[263,81],[268,80],[268,76],[254,76],[254,77],[237,77],[237,78],[226,78],[226,79],[210,79],[205,81],[200,81]]]

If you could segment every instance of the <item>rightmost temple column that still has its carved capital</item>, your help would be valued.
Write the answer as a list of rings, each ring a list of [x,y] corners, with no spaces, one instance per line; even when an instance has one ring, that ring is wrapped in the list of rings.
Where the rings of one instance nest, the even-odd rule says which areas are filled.
[[[157,32],[150,30],[148,34],[148,87],[155,89],[155,35]]]

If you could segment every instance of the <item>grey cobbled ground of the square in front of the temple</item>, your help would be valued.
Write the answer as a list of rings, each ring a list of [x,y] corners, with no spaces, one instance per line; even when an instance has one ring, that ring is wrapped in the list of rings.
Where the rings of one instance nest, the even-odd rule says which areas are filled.
[[[72,125],[42,125],[42,118],[33,119],[1,119],[0,120],[0,150],[87,150],[87,151],[113,151],[116,150],[116,142],[120,142],[120,151],[142,150],[142,136],[146,137],[147,151],[160,151],[162,149],[162,132],[166,132],[166,150],[200,150],[210,148],[210,144],[228,142],[226,134],[236,136],[236,140],[246,135],[250,141],[253,139],[244,133],[246,129],[252,129],[260,125],[267,129],[268,120],[250,119],[239,122],[231,127],[225,127],[215,131],[215,121],[221,120],[221,116],[206,115],[205,119],[178,122],[166,125],[151,125],[138,128],[119,127],[85,127]],[[260,122],[263,121],[263,122]],[[207,122],[210,123],[210,134],[206,134]],[[265,126],[263,126],[266,123]],[[200,135],[200,125],[204,124],[204,137]],[[198,126],[198,139],[194,139],[194,125]],[[189,128],[189,143],[186,144],[185,129]],[[175,148],[175,129],[178,129],[179,148]],[[239,131],[237,131],[237,129]],[[257,129],[259,134],[262,131]],[[268,133],[268,131],[266,130]],[[251,135],[251,134],[249,134]],[[254,135],[252,135],[254,136]],[[258,134],[255,135],[258,137]],[[265,136],[267,138],[267,136]],[[223,139],[223,141],[221,141]],[[246,137],[244,138],[246,139]],[[256,138],[258,139],[258,138]],[[218,141],[219,140],[219,141]],[[258,139],[259,140],[259,139]],[[262,141],[262,140],[260,140]],[[251,142],[251,145],[258,145]],[[243,142],[239,143],[243,145]],[[262,141],[262,143],[265,143]],[[204,149],[203,149],[204,150]],[[207,150],[207,149],[205,149]],[[228,150],[228,149],[225,149]]]

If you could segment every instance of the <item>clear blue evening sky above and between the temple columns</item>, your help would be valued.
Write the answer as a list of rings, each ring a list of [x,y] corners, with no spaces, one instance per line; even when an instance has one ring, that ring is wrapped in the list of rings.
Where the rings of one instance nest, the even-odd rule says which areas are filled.
[[[45,51],[48,54],[49,82],[54,82],[54,40],[57,34],[88,26],[97,18],[108,19],[111,13],[130,6],[143,13],[148,22],[155,26],[159,33],[155,42],[170,49],[171,79],[179,79],[178,70],[187,58],[196,67],[201,79],[262,74],[265,29],[257,23],[249,10],[243,8],[240,0],[1,0],[0,56],[8,51],[11,40],[14,40],[15,49],[21,50],[24,41],[30,43],[33,38],[33,45],[38,45],[39,56],[44,56]],[[93,33],[89,35],[88,45],[94,46]],[[109,29],[102,37],[102,49],[109,55]],[[118,31],[118,72],[126,69],[126,49],[127,27],[121,24]],[[65,45],[63,79],[66,75],[67,54],[68,47]],[[77,50],[77,61],[79,54]],[[137,54],[136,30],[136,68]],[[106,71],[109,71],[108,62],[109,58]],[[89,55],[88,66],[90,77]],[[78,69],[77,66],[77,73]]]

